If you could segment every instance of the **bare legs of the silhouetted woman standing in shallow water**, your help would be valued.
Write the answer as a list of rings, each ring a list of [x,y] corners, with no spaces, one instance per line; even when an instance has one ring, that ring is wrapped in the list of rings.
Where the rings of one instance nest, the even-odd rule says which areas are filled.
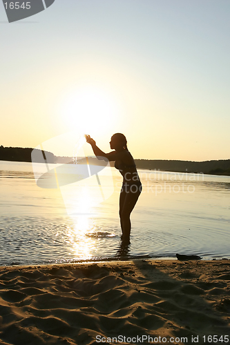
[[[130,233],[131,233],[131,220],[130,220],[130,215],[131,212],[137,203],[137,199],[140,196],[140,189],[135,193],[132,193],[129,191],[129,193],[126,193],[124,190],[121,192],[120,195],[120,210],[119,210],[119,215],[120,215],[120,220],[121,220],[121,227],[122,227],[122,239],[124,241],[128,242]]]

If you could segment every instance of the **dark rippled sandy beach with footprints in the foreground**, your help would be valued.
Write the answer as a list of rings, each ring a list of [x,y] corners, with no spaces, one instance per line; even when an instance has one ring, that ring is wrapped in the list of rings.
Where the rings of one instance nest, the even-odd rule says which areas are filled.
[[[2,266],[0,343],[227,344],[229,268],[227,259]]]

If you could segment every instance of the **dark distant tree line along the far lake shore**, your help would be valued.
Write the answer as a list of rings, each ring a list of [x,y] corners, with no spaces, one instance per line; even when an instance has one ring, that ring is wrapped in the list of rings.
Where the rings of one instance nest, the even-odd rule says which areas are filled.
[[[31,162],[31,152],[33,148],[4,148],[0,146],[0,160],[2,161],[28,161]],[[55,156],[52,152],[37,150],[37,162],[44,162],[46,157],[47,163],[73,163],[72,157]],[[88,158],[90,164],[99,164],[100,161],[95,158]],[[230,159],[219,161],[176,161],[161,159],[135,159],[137,169],[162,170],[175,172],[203,172],[211,175],[228,175],[230,176]],[[111,162],[111,166],[114,163]]]

